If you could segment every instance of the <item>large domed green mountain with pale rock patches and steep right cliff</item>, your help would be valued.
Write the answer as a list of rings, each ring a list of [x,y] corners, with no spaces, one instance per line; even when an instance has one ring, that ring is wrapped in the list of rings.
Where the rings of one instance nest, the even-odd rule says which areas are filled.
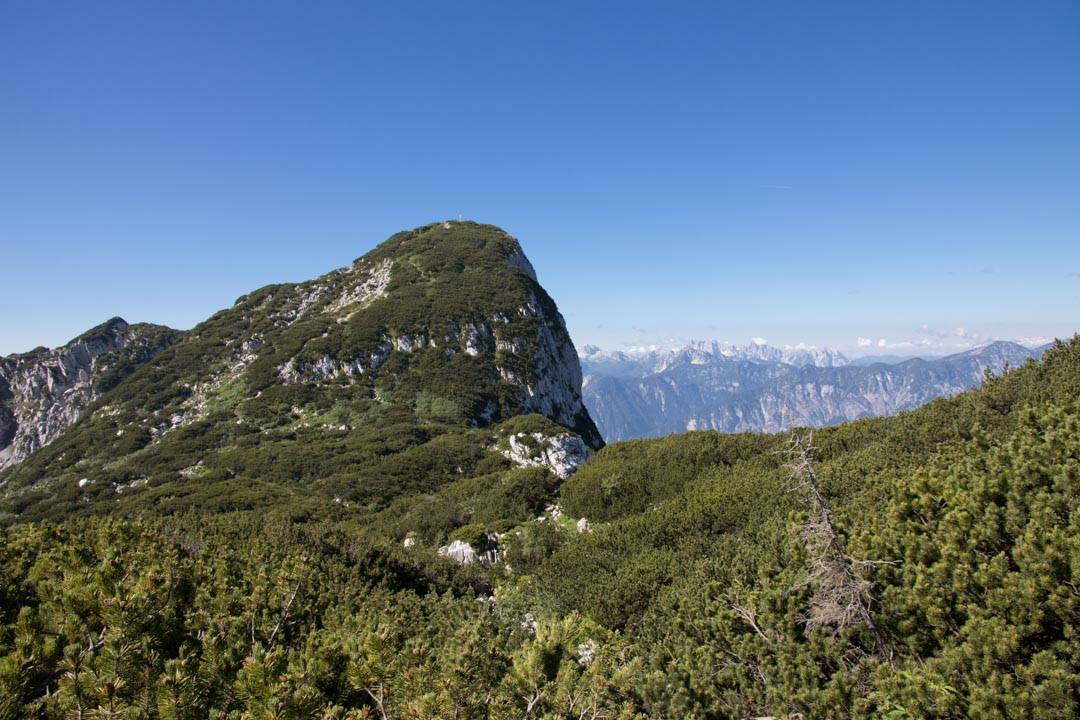
[[[281,503],[348,515],[510,466],[494,431],[524,413],[603,445],[517,242],[435,223],[240,298],[0,475],[0,493],[9,521]]]

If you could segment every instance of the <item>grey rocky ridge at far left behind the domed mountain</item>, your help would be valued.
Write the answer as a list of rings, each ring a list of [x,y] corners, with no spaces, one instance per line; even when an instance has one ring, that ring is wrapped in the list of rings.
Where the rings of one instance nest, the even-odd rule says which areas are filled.
[[[125,375],[179,338],[120,317],[49,350],[0,358],[0,470],[52,443]]]

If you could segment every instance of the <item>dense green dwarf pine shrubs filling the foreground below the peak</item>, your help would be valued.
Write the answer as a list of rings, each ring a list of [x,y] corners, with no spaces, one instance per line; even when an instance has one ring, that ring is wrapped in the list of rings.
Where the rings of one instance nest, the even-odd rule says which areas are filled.
[[[820,558],[782,436],[613,446],[562,488],[473,457],[483,472],[337,518],[283,497],[17,525],[0,546],[0,715],[1076,717],[1078,380],[1074,341],[815,434],[873,627],[808,629]],[[402,441],[407,457],[433,440]],[[559,491],[567,514],[546,513]],[[489,533],[504,562],[434,552]]]

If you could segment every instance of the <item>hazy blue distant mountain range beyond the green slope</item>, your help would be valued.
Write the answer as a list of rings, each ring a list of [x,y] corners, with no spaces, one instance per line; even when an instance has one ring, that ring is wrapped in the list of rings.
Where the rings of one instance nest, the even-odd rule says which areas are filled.
[[[999,341],[939,358],[851,361],[827,349],[691,342],[679,350],[580,351],[583,395],[609,441],[692,430],[774,432],[892,415],[977,386],[1049,345]]]

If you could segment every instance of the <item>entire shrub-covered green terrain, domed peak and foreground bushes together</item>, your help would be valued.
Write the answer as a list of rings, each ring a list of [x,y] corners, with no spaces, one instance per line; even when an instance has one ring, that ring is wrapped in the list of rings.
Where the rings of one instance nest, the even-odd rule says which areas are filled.
[[[472,223],[190,331],[0,475],[0,718],[1080,715],[1080,340],[570,475],[548,334]]]

